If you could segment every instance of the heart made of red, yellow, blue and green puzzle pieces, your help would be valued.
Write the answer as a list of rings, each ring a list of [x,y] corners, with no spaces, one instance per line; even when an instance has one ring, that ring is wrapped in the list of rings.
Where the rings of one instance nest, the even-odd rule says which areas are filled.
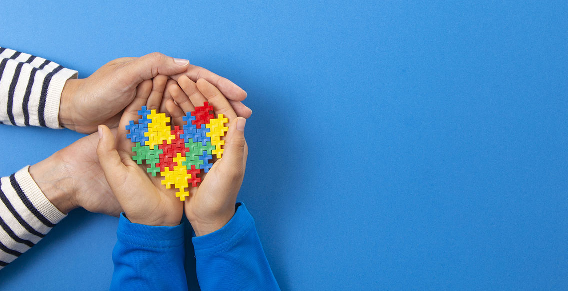
[[[221,137],[229,130],[225,126],[228,119],[222,114],[215,118],[212,111],[213,107],[205,102],[187,112],[183,129],[176,125],[172,130],[170,117],[143,106],[138,111],[142,116],[138,123],[131,120],[126,126],[130,130],[127,138],[136,144],[132,147],[132,159],[139,165],[150,165],[147,171],[154,177],[159,172],[164,177],[162,184],[168,189],[174,185],[178,189],[176,196],[182,201],[189,196],[189,187],[201,183],[197,175],[213,166],[213,156],[223,157],[225,141]]]

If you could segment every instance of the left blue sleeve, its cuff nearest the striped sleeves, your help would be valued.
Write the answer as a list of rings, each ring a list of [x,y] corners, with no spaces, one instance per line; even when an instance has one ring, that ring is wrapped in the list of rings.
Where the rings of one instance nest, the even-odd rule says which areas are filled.
[[[149,226],[120,214],[111,290],[187,290],[183,224]]]

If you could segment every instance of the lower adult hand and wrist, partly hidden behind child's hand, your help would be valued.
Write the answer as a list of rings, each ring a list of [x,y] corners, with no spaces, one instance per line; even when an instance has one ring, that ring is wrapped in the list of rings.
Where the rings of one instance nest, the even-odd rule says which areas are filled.
[[[61,212],[80,206],[111,216],[122,212],[99,164],[98,141],[98,133],[83,137],[30,167],[32,178]]]

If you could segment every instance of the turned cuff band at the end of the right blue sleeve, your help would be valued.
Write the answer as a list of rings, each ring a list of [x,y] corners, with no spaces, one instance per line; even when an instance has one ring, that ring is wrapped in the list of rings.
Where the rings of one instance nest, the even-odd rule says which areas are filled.
[[[210,234],[193,237],[195,256],[209,256],[224,251],[233,246],[248,231],[255,230],[254,218],[250,215],[247,206],[239,202],[236,205],[235,215],[221,229]]]

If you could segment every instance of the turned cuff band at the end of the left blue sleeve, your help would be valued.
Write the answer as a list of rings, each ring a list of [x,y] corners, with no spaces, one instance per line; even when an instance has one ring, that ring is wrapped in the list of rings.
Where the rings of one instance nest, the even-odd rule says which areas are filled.
[[[131,222],[124,212],[120,213],[116,234],[119,241],[142,247],[170,248],[185,242],[183,222],[176,226],[143,225]]]

